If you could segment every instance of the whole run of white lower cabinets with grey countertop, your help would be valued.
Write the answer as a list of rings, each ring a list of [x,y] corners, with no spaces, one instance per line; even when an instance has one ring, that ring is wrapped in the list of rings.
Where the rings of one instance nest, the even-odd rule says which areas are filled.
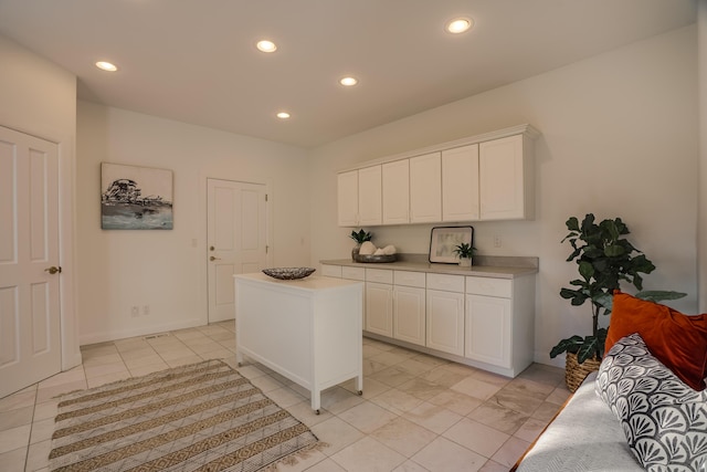
[[[329,264],[321,273],[366,281],[363,331],[371,337],[508,377],[532,363],[534,274],[503,279]]]

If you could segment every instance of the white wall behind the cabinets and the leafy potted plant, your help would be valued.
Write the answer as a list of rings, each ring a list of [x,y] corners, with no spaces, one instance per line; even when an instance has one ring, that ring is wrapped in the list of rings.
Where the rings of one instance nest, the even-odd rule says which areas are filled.
[[[571,307],[560,287],[577,276],[560,244],[570,216],[621,217],[657,270],[645,289],[688,293],[697,306],[698,199],[696,27],[431,109],[314,150],[312,263],[347,258],[350,228],[336,225],[336,171],[369,159],[529,123],[536,141],[535,221],[475,222],[481,254],[540,258],[536,360],[562,337],[591,329],[589,305]],[[431,225],[379,227],[377,245],[426,253]],[[493,247],[500,234],[502,248]],[[556,359],[555,364],[560,364]]]

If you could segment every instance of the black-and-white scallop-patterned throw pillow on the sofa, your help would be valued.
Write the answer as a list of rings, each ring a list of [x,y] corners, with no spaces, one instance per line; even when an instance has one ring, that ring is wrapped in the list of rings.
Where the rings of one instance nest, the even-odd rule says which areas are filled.
[[[646,471],[707,471],[707,390],[685,385],[637,333],[604,356],[594,388]]]

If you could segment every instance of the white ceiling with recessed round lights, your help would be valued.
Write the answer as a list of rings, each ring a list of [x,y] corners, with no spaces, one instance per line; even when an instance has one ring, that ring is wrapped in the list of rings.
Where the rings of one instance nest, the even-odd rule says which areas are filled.
[[[446,33],[457,15],[475,28]],[[304,147],[695,19],[695,0],[0,0],[0,34],[74,73],[82,99]]]

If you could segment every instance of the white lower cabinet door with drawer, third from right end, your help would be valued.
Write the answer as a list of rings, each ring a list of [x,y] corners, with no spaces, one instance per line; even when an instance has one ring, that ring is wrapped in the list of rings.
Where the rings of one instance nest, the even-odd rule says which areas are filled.
[[[393,338],[424,346],[425,275],[393,271]]]

